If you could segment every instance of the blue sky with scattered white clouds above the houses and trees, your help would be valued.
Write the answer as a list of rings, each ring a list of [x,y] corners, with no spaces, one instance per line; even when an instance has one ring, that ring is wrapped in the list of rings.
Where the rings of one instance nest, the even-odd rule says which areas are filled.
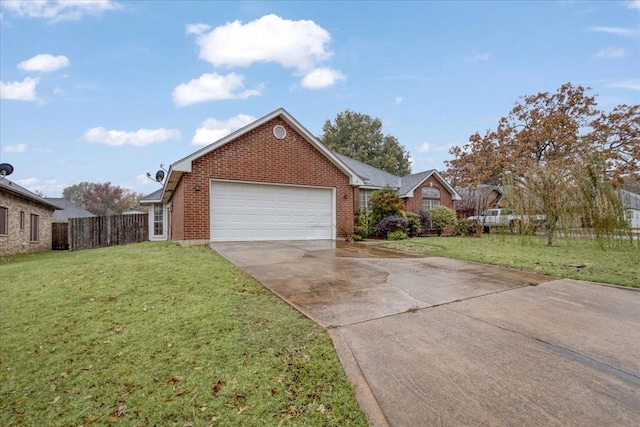
[[[59,197],[146,178],[284,107],[314,135],[378,117],[413,171],[520,96],[589,86],[640,103],[635,1],[0,2],[0,162]]]

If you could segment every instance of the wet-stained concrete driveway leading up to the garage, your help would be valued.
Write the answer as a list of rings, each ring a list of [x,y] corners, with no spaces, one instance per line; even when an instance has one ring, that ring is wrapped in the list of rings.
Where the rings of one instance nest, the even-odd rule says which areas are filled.
[[[328,328],[371,425],[640,425],[640,290],[341,242],[211,246]]]

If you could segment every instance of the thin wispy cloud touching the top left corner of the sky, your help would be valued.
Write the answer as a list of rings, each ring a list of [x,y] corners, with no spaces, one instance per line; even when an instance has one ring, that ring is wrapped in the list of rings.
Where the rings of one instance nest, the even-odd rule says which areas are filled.
[[[0,4],[15,15],[46,19],[49,23],[77,21],[85,15],[98,16],[122,8],[111,0],[3,0]]]

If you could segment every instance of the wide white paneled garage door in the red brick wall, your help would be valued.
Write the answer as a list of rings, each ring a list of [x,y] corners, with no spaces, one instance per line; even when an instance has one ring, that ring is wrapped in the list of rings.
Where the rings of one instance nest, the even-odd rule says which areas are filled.
[[[211,183],[211,241],[333,239],[333,189]]]

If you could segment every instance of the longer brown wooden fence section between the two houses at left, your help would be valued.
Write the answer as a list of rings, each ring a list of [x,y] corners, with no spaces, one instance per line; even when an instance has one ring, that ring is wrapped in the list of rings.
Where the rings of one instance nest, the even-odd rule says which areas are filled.
[[[145,214],[69,219],[69,249],[102,248],[145,242],[149,239]]]

